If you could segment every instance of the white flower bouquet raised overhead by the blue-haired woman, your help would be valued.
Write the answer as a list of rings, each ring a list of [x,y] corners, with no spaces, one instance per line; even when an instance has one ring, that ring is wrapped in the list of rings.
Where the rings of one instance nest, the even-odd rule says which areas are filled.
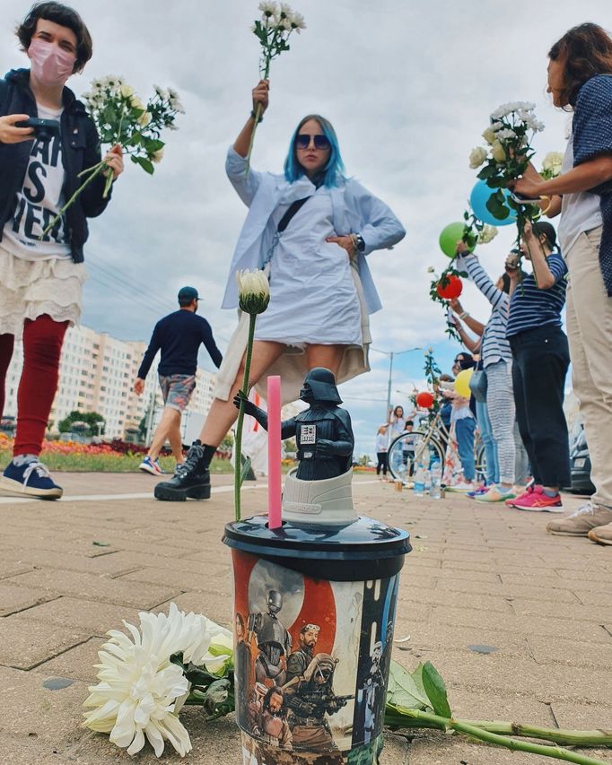
[[[270,64],[272,60],[281,55],[284,50],[289,50],[289,38],[293,31],[300,34],[306,29],[302,13],[297,13],[286,3],[263,2],[259,3],[261,19],[257,19],[251,27],[251,31],[261,44],[261,58],[259,59],[259,77],[267,80],[270,76]],[[255,131],[257,130],[261,106],[255,111],[255,126],[250,136],[249,153],[247,154],[247,170],[249,172],[250,155],[253,151]]]

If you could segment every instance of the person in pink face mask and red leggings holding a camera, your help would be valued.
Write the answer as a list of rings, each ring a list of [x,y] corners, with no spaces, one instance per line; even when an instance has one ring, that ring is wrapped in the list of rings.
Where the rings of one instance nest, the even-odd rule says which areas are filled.
[[[101,161],[99,136],[83,103],[66,88],[92,57],[92,38],[72,8],[35,4],[17,29],[30,69],[0,79],[0,416],[15,335],[23,341],[13,460],[0,490],[54,500],[62,489],[39,461],[66,329],[81,315],[87,219],[109,203],[100,175],[43,234],[81,184],[79,173]],[[54,120],[46,136],[19,123]],[[123,171],[122,151],[105,157]]]

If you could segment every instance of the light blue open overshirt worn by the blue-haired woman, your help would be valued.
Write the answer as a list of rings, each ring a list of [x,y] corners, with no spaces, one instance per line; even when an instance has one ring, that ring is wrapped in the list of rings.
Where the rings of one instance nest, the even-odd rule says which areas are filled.
[[[238,288],[234,276],[236,271],[263,266],[265,254],[275,235],[271,215],[291,186],[283,175],[251,169],[249,175],[245,176],[246,164],[246,160],[231,146],[227,152],[225,170],[238,196],[249,207],[249,213],[232,257],[223,309],[238,307]],[[375,249],[392,248],[405,237],[406,230],[386,204],[351,178],[340,186],[330,188],[330,194],[337,235],[359,233],[365,242],[365,249],[358,253],[357,266],[365,305],[368,313],[372,314],[380,310],[382,305],[365,256]]]

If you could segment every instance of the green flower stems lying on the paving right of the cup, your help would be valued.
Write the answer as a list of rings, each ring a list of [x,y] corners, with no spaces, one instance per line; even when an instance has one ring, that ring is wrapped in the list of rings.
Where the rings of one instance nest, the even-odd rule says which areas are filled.
[[[599,731],[554,731],[546,728],[532,726],[513,726],[511,723],[499,722],[468,722],[466,720],[456,720],[449,717],[441,717],[430,712],[423,712],[420,709],[407,709],[387,706],[385,723],[390,726],[403,727],[428,727],[439,730],[456,730],[458,733],[468,735],[485,743],[492,743],[497,746],[504,746],[507,749],[518,752],[530,752],[532,754],[541,754],[545,757],[552,757],[555,760],[564,760],[566,762],[575,762],[577,765],[606,765],[601,760],[594,760],[579,752],[570,752],[561,749],[558,746],[549,746],[541,743],[530,743],[515,741],[510,735],[525,735],[538,738],[547,738],[548,735],[555,735],[558,741],[569,743],[570,745],[596,746],[609,745],[610,735],[604,735]],[[486,728],[485,728],[486,726]],[[503,732],[507,735],[494,733],[487,728]],[[546,735],[545,735],[546,734]],[[549,740],[554,740],[552,737]]]

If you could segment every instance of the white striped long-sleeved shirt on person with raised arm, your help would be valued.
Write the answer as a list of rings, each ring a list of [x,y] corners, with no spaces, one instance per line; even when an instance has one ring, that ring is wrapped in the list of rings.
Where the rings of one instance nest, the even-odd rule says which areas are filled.
[[[508,324],[508,305],[510,298],[503,290],[498,290],[491,281],[489,274],[478,263],[474,255],[457,258],[459,271],[467,271],[469,278],[491,303],[493,311],[485,326],[482,338],[481,354],[483,366],[488,367],[497,361],[511,361],[510,343],[506,340],[506,325]]]

